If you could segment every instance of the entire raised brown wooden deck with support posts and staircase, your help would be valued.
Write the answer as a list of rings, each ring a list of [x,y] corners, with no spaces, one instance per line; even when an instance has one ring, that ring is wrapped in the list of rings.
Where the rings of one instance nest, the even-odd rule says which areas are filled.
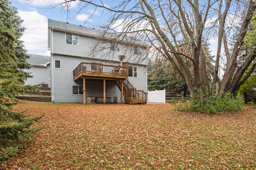
[[[73,70],[73,79],[77,81],[83,79],[83,101],[85,104],[85,79],[103,79],[103,103],[106,103],[106,80],[116,81],[116,85],[121,91],[121,101],[129,104],[146,104],[147,95],[142,90],[136,90],[128,81],[128,63],[126,67],[102,65],[96,63],[80,63]]]

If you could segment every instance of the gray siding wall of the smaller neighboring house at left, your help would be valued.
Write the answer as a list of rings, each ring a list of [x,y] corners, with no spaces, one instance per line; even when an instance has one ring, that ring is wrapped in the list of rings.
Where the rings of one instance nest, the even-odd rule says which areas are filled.
[[[48,84],[50,79],[50,64],[47,67],[33,66],[30,69],[24,71],[30,73],[33,78],[28,78],[25,81],[25,85],[37,85],[40,83]]]

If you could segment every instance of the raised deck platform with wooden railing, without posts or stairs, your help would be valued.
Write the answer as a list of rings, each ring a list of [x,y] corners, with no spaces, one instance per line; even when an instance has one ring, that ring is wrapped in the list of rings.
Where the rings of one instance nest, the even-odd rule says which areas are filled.
[[[73,79],[76,81],[83,77],[89,79],[124,80],[128,78],[128,67],[80,63],[73,70]]]

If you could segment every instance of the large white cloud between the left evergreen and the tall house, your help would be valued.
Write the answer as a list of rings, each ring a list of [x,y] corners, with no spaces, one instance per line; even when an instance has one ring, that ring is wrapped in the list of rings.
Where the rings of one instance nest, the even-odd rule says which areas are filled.
[[[24,20],[22,26],[26,28],[21,40],[24,41],[24,45],[26,50],[28,50],[28,53],[31,53],[31,51],[38,51],[38,53],[42,53],[42,51],[48,50],[47,18],[36,11],[18,10],[18,12],[18,15],[22,20]]]

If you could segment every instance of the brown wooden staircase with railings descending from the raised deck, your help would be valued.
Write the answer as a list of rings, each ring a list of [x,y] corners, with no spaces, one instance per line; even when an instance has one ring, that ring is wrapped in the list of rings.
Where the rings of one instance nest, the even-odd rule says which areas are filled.
[[[122,91],[122,81],[116,81],[116,85]],[[147,94],[143,90],[136,90],[126,79],[123,81],[124,103],[128,104],[146,104]]]

